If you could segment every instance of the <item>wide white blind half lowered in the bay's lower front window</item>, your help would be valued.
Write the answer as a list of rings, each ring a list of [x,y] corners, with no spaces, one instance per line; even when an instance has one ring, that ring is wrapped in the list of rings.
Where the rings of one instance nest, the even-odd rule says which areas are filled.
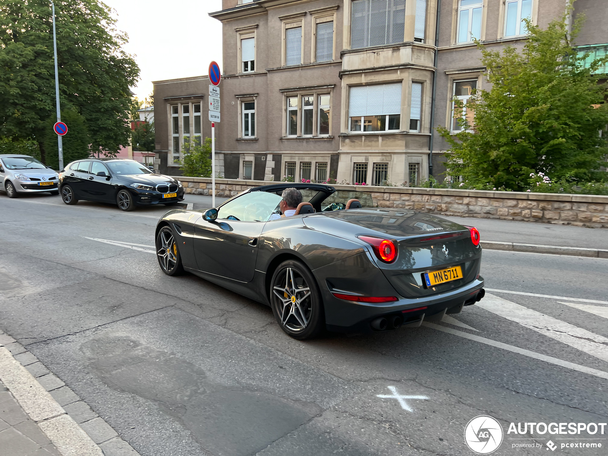
[[[350,88],[348,116],[401,114],[401,84],[381,84]]]

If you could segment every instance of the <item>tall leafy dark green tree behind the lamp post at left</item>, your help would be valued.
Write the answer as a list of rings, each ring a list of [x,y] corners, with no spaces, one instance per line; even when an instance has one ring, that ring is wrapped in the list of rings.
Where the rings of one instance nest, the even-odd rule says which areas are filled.
[[[61,108],[83,116],[92,150],[116,153],[130,143],[129,86],[139,77],[121,47],[128,37],[97,0],[57,0],[55,13]],[[54,112],[50,4],[0,0],[0,135],[35,139],[44,161],[44,128]]]

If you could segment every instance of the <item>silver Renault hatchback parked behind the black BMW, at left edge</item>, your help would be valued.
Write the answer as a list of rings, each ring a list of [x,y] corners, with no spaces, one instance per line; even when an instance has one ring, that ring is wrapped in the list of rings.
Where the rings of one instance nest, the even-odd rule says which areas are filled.
[[[9,198],[19,193],[50,192],[59,195],[59,176],[29,155],[0,154],[0,190]]]

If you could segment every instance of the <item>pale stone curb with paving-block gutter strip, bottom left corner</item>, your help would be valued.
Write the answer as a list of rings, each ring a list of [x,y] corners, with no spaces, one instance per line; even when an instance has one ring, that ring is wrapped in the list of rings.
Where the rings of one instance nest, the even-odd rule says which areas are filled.
[[[0,337],[0,380],[62,456],[139,456],[32,353]]]

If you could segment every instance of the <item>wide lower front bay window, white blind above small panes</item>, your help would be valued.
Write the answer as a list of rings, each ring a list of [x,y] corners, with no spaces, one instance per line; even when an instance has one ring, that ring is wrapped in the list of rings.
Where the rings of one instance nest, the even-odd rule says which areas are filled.
[[[399,131],[401,84],[350,88],[350,131]]]

